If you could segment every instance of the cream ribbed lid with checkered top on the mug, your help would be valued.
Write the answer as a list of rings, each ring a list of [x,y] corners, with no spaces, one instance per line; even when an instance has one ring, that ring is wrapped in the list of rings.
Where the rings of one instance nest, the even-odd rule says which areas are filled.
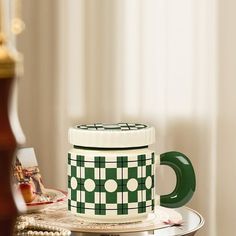
[[[145,124],[87,124],[69,129],[72,145],[90,148],[129,148],[155,142],[154,127]]]

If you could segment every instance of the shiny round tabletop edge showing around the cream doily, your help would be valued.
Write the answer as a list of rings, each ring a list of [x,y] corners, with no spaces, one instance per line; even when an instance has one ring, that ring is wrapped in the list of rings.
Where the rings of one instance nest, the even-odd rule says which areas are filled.
[[[181,207],[175,209],[178,211],[182,217],[184,223],[181,226],[172,226],[167,228],[162,228],[154,231],[149,232],[140,232],[140,233],[102,233],[102,234],[94,234],[94,233],[79,233],[79,232],[72,232],[72,236],[149,236],[149,235],[156,235],[156,236],[180,236],[180,235],[195,235],[196,232],[204,225],[203,217],[196,211],[187,208]]]

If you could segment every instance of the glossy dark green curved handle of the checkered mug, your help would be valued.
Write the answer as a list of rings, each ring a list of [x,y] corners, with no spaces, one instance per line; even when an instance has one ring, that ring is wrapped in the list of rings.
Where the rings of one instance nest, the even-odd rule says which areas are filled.
[[[160,165],[171,167],[177,180],[172,193],[160,196],[160,205],[169,208],[185,205],[192,198],[196,188],[192,163],[183,153],[172,151],[160,155]]]

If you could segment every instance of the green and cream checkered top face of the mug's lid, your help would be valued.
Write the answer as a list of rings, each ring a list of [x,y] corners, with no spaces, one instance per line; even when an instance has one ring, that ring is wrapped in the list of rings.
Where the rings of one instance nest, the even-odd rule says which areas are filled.
[[[147,126],[144,124],[132,124],[132,123],[118,123],[118,124],[91,124],[91,125],[79,125],[78,129],[83,130],[139,130],[144,129]]]

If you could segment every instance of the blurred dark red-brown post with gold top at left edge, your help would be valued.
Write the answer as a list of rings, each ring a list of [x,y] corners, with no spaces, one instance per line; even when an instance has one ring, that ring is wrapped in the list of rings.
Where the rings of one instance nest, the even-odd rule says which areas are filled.
[[[13,234],[18,215],[12,192],[11,168],[17,147],[10,123],[11,89],[15,79],[15,59],[0,36],[0,235]]]

